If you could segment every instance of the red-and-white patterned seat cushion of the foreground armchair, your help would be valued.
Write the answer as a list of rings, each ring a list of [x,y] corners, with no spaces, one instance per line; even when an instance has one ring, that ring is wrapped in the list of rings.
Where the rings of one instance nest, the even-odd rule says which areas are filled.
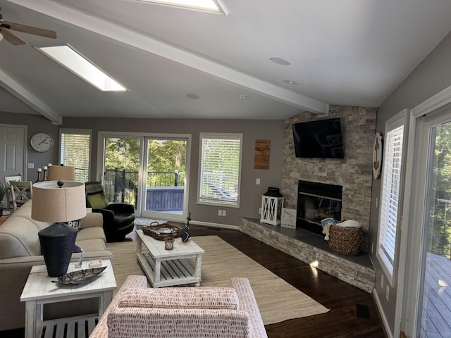
[[[237,293],[231,287],[130,288],[121,294],[119,307],[223,308],[237,310]]]

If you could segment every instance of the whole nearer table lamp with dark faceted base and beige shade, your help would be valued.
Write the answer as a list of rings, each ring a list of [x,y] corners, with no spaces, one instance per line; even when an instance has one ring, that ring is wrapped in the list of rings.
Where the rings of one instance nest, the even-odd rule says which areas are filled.
[[[33,184],[31,217],[56,222],[38,232],[47,273],[60,277],[68,270],[78,230],[67,223],[86,215],[85,184],[45,181]]]

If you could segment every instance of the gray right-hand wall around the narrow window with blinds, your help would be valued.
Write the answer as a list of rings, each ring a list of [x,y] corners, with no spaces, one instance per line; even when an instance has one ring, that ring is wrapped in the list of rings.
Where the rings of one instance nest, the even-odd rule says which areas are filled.
[[[385,134],[385,121],[404,108],[412,109],[431,96],[451,85],[451,34],[447,35],[440,44],[422,61],[416,69],[400,84],[397,89],[378,108],[376,131]],[[407,140],[407,135],[404,135]],[[404,168],[405,169],[405,168]],[[370,241],[376,243],[378,230],[378,213],[376,198],[381,193],[381,180],[373,180],[371,195]],[[409,198],[406,196],[405,198]],[[410,226],[420,226],[414,224]],[[381,287],[381,266],[376,258],[376,251],[372,254],[376,265],[376,292],[381,300],[381,311],[393,330],[395,325],[395,299],[397,287],[390,288],[388,301],[385,299],[385,285]],[[404,267],[401,267],[404,268]],[[397,275],[397,268],[395,270]],[[384,280],[386,280],[384,276]]]

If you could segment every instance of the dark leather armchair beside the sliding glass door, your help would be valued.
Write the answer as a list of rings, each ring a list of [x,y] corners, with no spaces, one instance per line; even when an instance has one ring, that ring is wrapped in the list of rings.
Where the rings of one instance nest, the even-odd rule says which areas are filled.
[[[104,217],[106,242],[121,242],[135,226],[135,208],[131,204],[109,204],[100,182],[86,182],[86,206]]]

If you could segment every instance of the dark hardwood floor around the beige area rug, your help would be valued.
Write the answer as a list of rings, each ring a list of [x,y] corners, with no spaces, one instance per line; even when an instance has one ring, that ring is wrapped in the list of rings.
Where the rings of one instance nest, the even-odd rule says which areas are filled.
[[[311,268],[310,265],[237,230],[191,225],[190,234],[191,236],[216,234],[293,287],[330,308],[328,313],[321,315],[266,325],[269,338],[386,337],[371,294]],[[134,240],[135,236],[130,234],[128,238]],[[273,292],[277,297],[277,290],[268,292]],[[23,329],[0,332],[2,338],[23,335]]]

